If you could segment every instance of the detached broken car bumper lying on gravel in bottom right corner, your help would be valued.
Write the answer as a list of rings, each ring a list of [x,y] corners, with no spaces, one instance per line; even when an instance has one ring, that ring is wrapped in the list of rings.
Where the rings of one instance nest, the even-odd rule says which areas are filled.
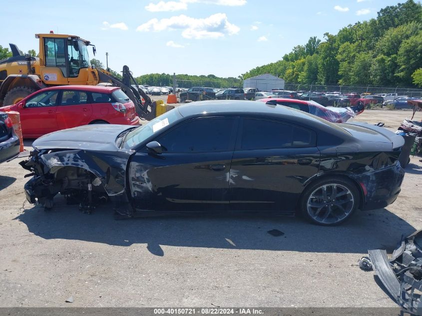
[[[370,250],[383,285],[406,313],[422,316],[422,230],[403,238],[390,260],[385,250]]]

